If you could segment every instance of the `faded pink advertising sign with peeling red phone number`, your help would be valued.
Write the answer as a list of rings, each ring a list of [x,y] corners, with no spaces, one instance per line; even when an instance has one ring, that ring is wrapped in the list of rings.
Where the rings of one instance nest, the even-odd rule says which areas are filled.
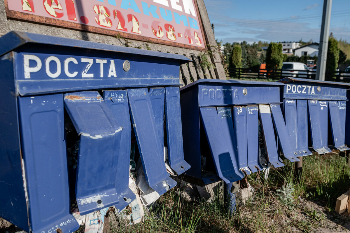
[[[201,50],[195,0],[5,0],[8,18]]]

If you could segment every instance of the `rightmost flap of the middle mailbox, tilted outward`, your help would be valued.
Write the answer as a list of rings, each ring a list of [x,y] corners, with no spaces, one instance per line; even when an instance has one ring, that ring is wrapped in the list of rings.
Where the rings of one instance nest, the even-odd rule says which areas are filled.
[[[293,152],[292,146],[290,145],[286,124],[280,105],[270,104],[270,109],[283,156],[289,159],[290,162],[300,161],[295,156],[296,153]]]

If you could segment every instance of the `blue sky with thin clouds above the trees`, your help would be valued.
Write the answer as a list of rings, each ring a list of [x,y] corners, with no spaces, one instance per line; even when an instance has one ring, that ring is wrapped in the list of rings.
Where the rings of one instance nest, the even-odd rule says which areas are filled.
[[[323,0],[204,0],[215,38],[247,41],[319,42]],[[350,0],[333,0],[330,32],[350,42]]]

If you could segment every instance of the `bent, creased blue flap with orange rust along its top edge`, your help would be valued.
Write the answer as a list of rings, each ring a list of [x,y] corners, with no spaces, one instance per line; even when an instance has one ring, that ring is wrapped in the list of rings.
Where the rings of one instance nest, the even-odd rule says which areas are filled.
[[[97,91],[64,94],[64,104],[80,135],[76,178],[80,214],[118,204],[116,171],[122,128]]]

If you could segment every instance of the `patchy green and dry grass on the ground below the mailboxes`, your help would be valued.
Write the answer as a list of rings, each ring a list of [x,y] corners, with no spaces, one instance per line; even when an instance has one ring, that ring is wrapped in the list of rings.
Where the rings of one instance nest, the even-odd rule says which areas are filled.
[[[318,203],[327,216],[335,214],[336,198],[350,186],[350,167],[336,153],[303,158],[303,173],[299,182],[294,178],[294,163],[283,160],[284,167],[272,168],[269,178],[256,173],[248,176],[254,187],[254,198],[245,205],[237,204],[230,216],[225,209],[223,189],[218,189],[212,201],[196,198],[185,201],[179,189],[163,194],[148,210],[142,224],[126,225],[109,213],[107,232],[314,232],[324,227],[325,215],[306,206],[309,200]],[[348,220],[350,217],[348,215]]]

